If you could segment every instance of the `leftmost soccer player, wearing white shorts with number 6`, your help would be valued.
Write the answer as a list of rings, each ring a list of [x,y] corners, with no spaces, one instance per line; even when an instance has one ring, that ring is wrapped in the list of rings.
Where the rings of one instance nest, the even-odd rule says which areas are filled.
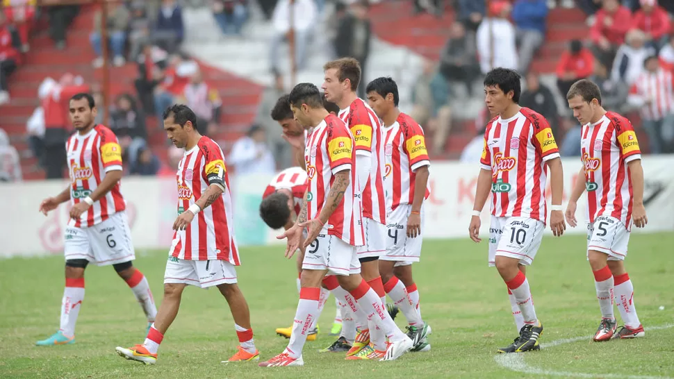
[[[131,263],[135,251],[120,186],[122,148],[110,129],[94,123],[96,114],[90,94],[72,96],[69,115],[76,133],[65,145],[70,185],[40,203],[40,212],[45,215],[66,201],[70,201],[72,209],[65,228],[65,290],[60,328],[51,337],[38,341],[38,346],[75,342],[75,323],[84,301],[84,270],[90,262],[113,266],[131,287],[149,324],[157,314],[147,279]]]

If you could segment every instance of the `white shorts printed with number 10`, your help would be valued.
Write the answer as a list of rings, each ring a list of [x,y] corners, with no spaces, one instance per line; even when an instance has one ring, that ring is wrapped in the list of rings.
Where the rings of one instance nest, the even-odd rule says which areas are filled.
[[[517,258],[528,266],[541,246],[545,224],[529,217],[491,216],[489,227],[489,266],[495,266],[496,255]]]

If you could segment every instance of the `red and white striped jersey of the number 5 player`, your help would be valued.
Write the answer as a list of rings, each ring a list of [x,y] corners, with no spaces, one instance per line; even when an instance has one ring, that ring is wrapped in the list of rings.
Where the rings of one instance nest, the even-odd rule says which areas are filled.
[[[583,126],[580,140],[590,222],[600,216],[632,225],[632,178],[627,162],[641,159],[630,120],[616,112]]]

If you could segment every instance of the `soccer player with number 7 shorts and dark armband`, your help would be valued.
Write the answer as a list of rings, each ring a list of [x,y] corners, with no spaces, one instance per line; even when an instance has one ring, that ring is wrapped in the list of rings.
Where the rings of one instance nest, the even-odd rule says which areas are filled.
[[[229,175],[220,146],[197,131],[190,108],[165,110],[164,130],[174,145],[185,149],[178,165],[178,217],[164,274],[164,298],[147,338],[131,348],[117,346],[117,354],[145,364],[157,361],[157,351],[176,318],[187,285],[217,287],[229,303],[239,339],[238,351],[227,362],[259,360],[248,304],[236,285],[240,264],[231,219]]]

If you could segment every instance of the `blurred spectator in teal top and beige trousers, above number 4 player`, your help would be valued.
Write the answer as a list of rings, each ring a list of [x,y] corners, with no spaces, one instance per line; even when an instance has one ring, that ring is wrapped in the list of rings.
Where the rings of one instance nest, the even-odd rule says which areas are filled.
[[[421,76],[412,88],[410,113],[421,126],[433,133],[432,152],[441,153],[452,128],[450,88],[445,77],[431,60],[425,60]]]

